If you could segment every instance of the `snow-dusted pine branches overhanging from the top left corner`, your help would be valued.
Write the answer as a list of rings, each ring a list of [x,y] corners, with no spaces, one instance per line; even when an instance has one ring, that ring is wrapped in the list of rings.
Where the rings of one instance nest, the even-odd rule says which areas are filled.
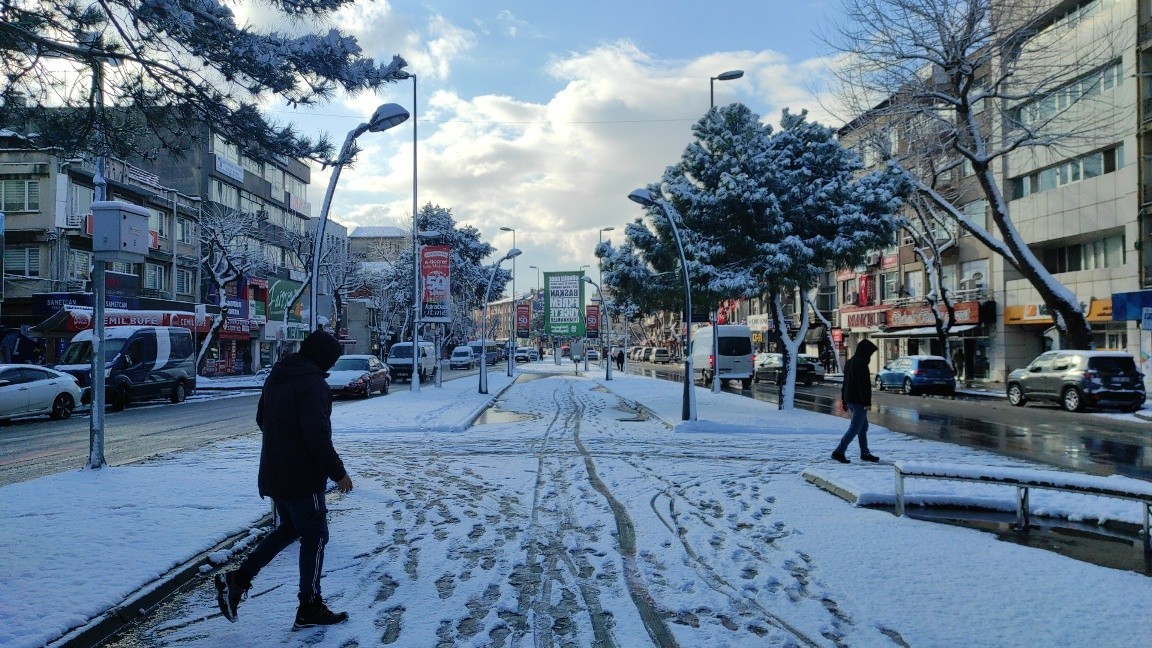
[[[268,29],[219,0],[3,2],[0,127],[66,156],[132,159],[184,151],[211,125],[255,159],[326,161],[327,138],[274,123],[259,105],[306,106],[407,77],[400,56],[378,63],[319,27],[351,2],[279,0],[266,6]]]

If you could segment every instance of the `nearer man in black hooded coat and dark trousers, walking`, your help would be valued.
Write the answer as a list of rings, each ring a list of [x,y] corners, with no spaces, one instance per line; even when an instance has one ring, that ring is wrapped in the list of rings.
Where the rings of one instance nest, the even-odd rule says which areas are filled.
[[[294,628],[332,625],[348,619],[333,612],[320,596],[328,512],[324,492],[328,480],[340,492],[353,481],[332,446],[332,391],[325,382],[340,357],[340,344],[316,331],[272,368],[256,408],[264,432],[260,447],[260,497],[275,505],[276,528],[260,541],[240,567],[215,577],[217,602],[229,621],[247,597],[252,579],[289,544],[300,540],[300,608]]]

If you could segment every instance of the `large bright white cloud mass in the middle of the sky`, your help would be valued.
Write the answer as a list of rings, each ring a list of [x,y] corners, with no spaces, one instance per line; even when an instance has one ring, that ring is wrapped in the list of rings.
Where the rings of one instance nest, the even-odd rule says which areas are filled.
[[[718,104],[742,100],[773,122],[783,107],[828,121],[811,93],[819,61],[772,51],[665,61],[629,42],[605,44],[552,60],[541,71],[560,85],[546,103],[435,91],[418,115],[419,204],[452,208],[499,249],[511,247],[499,227],[515,228],[520,265],[594,264],[599,229],[615,226],[621,240],[642,214],[628,193],[677,161],[708,108],[708,77],[733,68],[746,74],[715,83]],[[361,168],[341,181],[344,220],[410,226],[411,131],[396,130],[409,140],[373,137]]]

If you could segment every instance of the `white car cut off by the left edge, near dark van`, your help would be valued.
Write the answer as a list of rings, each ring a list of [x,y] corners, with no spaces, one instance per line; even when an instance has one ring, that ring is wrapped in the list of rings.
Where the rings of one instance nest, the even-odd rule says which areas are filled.
[[[62,421],[79,399],[75,376],[37,364],[0,364],[0,421],[36,414]]]

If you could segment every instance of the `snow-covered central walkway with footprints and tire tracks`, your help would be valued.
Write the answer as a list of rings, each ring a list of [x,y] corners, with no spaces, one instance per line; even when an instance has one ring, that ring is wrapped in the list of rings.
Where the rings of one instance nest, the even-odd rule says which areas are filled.
[[[575,378],[571,364],[518,369]],[[619,646],[650,645],[649,623],[682,646],[778,635],[863,646],[890,643],[892,633],[912,646],[1146,639],[1152,579],[852,507],[805,482],[817,476],[861,505],[893,500],[890,467],[827,460],[842,419],[698,389],[700,421],[682,422],[679,384],[619,374],[604,382],[598,371],[533,378],[505,391],[511,379],[491,371],[488,394],[470,377],[338,407],[336,446],[356,490],[329,497],[325,594],[353,615],[328,631],[333,645],[381,635],[401,646],[499,645],[558,615],[533,606],[539,593],[517,575],[533,560],[556,570],[544,573],[558,601],[574,594],[588,618],[611,610]],[[493,402],[492,421],[472,425]],[[877,427],[870,437],[884,458],[1028,466]],[[237,624],[219,618],[209,580],[195,575],[259,536],[253,525],[268,504],[256,495],[258,454],[259,439],[240,439],[0,489],[0,646],[65,643],[183,580],[195,594],[166,641],[316,641],[287,632],[293,549],[262,573]],[[908,497],[1014,506],[1009,489],[950,482]],[[1139,521],[1137,506],[1100,498],[1037,492],[1032,505],[1046,515]],[[634,535],[620,535],[629,528]],[[631,543],[631,553],[622,549]],[[665,620],[637,616],[636,582]],[[597,628],[581,618],[575,630],[547,627],[588,645]]]

